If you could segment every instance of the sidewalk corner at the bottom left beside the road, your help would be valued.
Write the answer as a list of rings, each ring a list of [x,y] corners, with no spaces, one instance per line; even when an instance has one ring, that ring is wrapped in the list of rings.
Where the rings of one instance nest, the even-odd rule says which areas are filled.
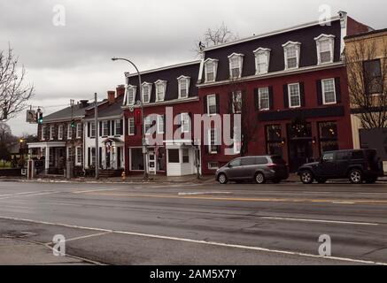
[[[89,263],[72,256],[54,256],[49,247],[12,237],[0,237],[0,265],[84,265]]]

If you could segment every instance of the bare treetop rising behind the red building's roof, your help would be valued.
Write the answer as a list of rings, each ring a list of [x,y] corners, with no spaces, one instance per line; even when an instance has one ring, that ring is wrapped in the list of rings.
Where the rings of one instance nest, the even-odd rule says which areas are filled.
[[[221,23],[220,27],[208,28],[203,36],[195,42],[194,51],[197,56],[201,54],[202,48],[218,45],[225,42],[233,42],[238,39],[238,35],[228,29],[228,27]]]

